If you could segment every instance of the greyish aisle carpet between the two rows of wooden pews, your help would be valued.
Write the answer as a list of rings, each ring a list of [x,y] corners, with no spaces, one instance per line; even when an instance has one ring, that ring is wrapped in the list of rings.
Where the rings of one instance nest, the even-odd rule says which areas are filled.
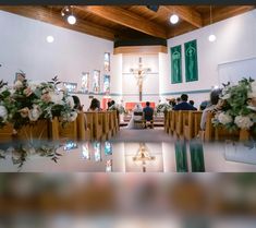
[[[125,129],[120,128],[113,142],[173,142],[174,137],[167,134],[163,128],[155,129]]]

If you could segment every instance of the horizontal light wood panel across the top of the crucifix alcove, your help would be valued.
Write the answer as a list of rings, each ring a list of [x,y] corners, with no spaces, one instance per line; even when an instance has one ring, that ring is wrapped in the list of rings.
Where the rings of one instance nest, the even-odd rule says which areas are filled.
[[[129,46],[114,48],[113,53],[167,53],[166,46]]]

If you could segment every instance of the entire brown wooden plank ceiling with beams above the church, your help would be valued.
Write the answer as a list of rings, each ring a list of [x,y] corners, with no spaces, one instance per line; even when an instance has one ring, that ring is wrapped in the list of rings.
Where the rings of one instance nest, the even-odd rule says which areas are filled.
[[[146,5],[73,5],[73,14],[77,19],[75,25],[70,25],[61,15],[63,7],[0,5],[0,10],[109,40],[168,39],[210,24],[209,5],[159,5],[157,11]],[[255,5],[212,5],[211,23],[253,9]],[[169,22],[172,13],[180,16],[175,25]]]

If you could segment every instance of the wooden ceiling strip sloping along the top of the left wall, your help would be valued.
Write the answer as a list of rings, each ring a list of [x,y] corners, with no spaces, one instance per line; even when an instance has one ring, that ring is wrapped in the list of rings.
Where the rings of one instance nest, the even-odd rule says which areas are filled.
[[[0,10],[23,15],[29,19],[35,19],[41,22],[50,23],[57,26],[69,28],[72,31],[86,33],[88,35],[101,37],[109,40],[114,40],[114,31],[106,28],[94,23],[86,22],[84,20],[77,19],[75,25],[70,25],[60,14],[56,12],[50,12],[49,9],[45,7],[4,7],[1,5]]]

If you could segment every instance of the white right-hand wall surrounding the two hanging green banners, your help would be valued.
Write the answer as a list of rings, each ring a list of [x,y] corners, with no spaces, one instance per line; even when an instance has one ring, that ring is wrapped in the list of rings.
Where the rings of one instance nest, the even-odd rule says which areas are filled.
[[[215,43],[208,41],[210,32],[214,32],[217,36]],[[184,43],[193,39],[197,40],[198,81],[186,83]],[[166,63],[162,63],[167,64],[168,69],[161,81],[160,93],[164,95],[163,97],[176,97],[179,94],[175,93],[178,92],[195,93],[196,91],[210,89],[211,86],[218,85],[218,64],[256,57],[255,40],[256,10],[169,39],[169,53],[167,58],[163,58],[166,59]],[[171,84],[170,47],[176,45],[182,45],[183,83]],[[197,104],[208,98],[208,92],[188,95],[190,98],[195,99]]]

